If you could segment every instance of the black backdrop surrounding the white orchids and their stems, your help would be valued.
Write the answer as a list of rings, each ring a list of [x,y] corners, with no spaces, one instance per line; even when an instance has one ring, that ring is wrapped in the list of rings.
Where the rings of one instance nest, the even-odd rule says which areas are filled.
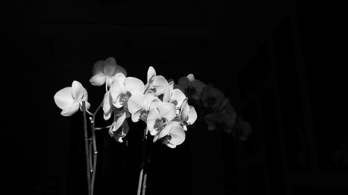
[[[109,56],[192,73],[253,126],[246,142],[204,121],[177,149],[150,144],[147,194],[347,194],[345,42],[338,5],[304,1],[9,1],[1,5],[1,178],[8,194],[86,194],[82,115],[58,90]],[[102,116],[100,126],[109,125]],[[95,194],[136,194],[145,124],[126,144],[97,132]],[[99,126],[99,125],[97,125]],[[339,156],[335,160],[334,155]],[[5,189],[3,189],[5,192]]]

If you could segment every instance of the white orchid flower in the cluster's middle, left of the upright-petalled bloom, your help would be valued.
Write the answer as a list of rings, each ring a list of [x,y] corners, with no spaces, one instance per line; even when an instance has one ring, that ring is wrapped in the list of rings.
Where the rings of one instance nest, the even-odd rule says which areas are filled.
[[[132,114],[132,121],[137,122],[142,119],[146,122],[148,112],[151,108],[156,108],[159,103],[161,100],[152,91],[132,95],[128,100],[128,110]]]

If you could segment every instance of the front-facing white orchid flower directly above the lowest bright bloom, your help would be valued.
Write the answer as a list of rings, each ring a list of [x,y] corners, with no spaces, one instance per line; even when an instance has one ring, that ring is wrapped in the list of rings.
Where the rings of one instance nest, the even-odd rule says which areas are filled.
[[[168,121],[176,116],[176,109],[173,103],[161,102],[155,108],[152,108],[148,114],[146,124],[151,135],[156,135],[160,130],[166,127]]]

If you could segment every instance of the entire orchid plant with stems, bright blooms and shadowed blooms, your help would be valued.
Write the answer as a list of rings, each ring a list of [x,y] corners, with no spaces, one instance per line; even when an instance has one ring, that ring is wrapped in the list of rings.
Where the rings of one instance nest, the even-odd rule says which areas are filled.
[[[105,85],[103,101],[95,112],[89,111],[88,93],[77,80],[72,82],[71,87],[65,87],[54,95],[56,105],[62,110],[61,115],[67,117],[78,110],[84,113],[88,194],[93,194],[94,189],[97,164],[95,130],[101,129],[95,127],[95,115],[100,108],[106,121],[112,119],[112,124],[106,128],[117,142],[123,142],[122,139],[129,132],[129,118],[132,122],[143,121],[146,124],[144,142],[150,134],[154,136],[153,142],[160,141],[172,149],[184,142],[185,131],[198,119],[198,114],[204,118],[208,130],[221,128],[241,140],[251,133],[250,125],[245,121],[240,122],[242,119],[237,117],[230,99],[213,85],[205,85],[195,79],[193,74],[180,78],[175,84],[174,80],[157,75],[150,66],[144,84],[139,78],[127,76],[127,71],[116,63],[115,58],[110,57],[95,62],[89,81],[95,86]],[[204,112],[197,113],[193,105]],[[90,115],[91,137],[87,132],[87,114]],[[138,194],[142,180],[143,169],[139,176]],[[143,194],[144,183],[145,177]]]

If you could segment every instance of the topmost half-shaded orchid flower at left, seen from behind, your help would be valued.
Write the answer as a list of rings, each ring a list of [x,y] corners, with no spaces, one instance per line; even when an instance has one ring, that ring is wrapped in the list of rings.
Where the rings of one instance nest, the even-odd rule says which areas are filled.
[[[110,87],[116,74],[122,73],[127,76],[127,71],[116,63],[115,58],[109,57],[106,60],[99,60],[93,65],[93,76],[90,83],[95,86],[101,86],[107,83]]]

